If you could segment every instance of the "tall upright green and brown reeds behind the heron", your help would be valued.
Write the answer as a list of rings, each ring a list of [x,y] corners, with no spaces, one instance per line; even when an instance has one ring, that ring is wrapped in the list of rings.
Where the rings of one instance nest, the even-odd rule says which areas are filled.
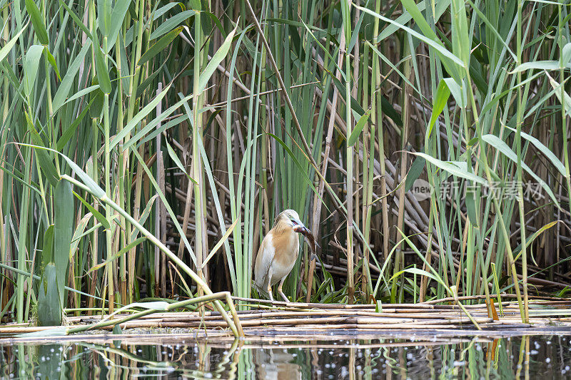
[[[532,296],[571,289],[570,14],[0,0],[0,318],[229,292],[209,302],[238,334],[228,315],[293,208],[320,250],[292,301],[491,313],[507,293],[527,324]]]

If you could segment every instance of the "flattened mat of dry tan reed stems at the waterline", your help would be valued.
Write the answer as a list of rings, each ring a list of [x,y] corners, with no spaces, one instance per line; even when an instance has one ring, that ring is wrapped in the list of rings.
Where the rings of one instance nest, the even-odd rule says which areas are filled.
[[[306,334],[330,336],[330,334],[361,334],[406,332],[406,334],[540,334],[559,332],[571,327],[571,301],[530,301],[529,323],[522,323],[520,308],[515,302],[504,302],[500,309],[488,314],[485,304],[471,305],[469,310],[454,304],[387,304],[376,309],[367,304],[328,304],[327,307],[288,303],[281,307],[248,305],[248,310],[238,311],[243,336],[246,339],[263,337],[305,337]],[[124,322],[121,322],[124,321]],[[170,334],[185,337],[230,337],[233,333],[219,312],[156,312],[128,320],[128,314],[116,314],[113,323],[107,324],[108,316],[68,317],[66,328],[36,327],[24,324],[8,324],[0,327],[0,334],[20,334],[15,339],[59,339],[62,334],[79,334],[86,331],[102,334],[101,330],[121,334],[143,329],[148,334]],[[35,333],[35,334],[28,334]],[[103,333],[105,334],[105,333]],[[16,342],[16,341],[14,341]]]

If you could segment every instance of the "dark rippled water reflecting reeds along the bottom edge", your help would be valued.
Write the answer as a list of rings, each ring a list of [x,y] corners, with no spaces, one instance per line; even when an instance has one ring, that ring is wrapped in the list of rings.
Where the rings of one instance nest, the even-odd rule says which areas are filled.
[[[571,336],[320,342],[14,344],[0,376],[21,379],[536,379],[571,374]],[[134,344],[133,344],[134,343]]]

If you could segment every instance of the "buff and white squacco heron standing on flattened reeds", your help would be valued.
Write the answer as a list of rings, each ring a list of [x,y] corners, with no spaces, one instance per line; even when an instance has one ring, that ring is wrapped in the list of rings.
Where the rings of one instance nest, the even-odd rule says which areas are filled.
[[[282,285],[298,258],[298,232],[306,231],[297,212],[284,210],[276,217],[272,229],[263,238],[256,256],[254,282],[258,289],[268,292],[272,301],[272,286],[280,282],[278,293],[285,302],[289,302],[288,297],[283,294]]]

